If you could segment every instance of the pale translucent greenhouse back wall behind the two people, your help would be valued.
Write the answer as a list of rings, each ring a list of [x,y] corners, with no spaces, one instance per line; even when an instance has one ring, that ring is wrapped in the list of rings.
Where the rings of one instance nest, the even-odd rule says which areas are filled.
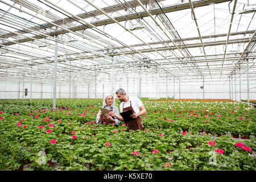
[[[254,100],[256,97],[256,80],[250,80],[249,83],[249,98]],[[155,80],[141,81],[141,97],[148,98],[204,98],[205,99],[229,99],[240,100],[240,83],[237,79],[236,85],[233,81],[233,86],[229,87],[229,81],[205,81],[204,89],[203,82],[191,81],[170,81],[158,80],[156,88]],[[95,88],[96,86],[96,88]],[[23,82],[0,82],[0,98],[1,99],[30,99],[31,83],[24,81],[24,89],[27,88],[27,96],[24,96]],[[139,96],[139,81],[131,80],[130,82],[115,81],[114,92],[118,88],[126,90],[129,96]],[[230,92],[229,92],[230,89]],[[69,92],[70,90],[70,92]],[[241,100],[247,100],[247,80],[241,80]],[[157,94],[156,94],[157,92]],[[236,92],[236,94],[235,94]],[[72,82],[70,84],[59,83],[56,85],[56,98],[103,98],[104,94],[111,93],[111,84],[99,82],[98,84],[79,84]],[[38,83],[32,82],[32,98],[53,98],[53,84],[52,83]]]

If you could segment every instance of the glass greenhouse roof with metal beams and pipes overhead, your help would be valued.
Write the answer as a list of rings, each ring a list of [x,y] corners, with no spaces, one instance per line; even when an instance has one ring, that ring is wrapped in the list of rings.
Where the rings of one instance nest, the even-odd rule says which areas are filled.
[[[1,80],[256,76],[252,0],[0,0]],[[112,64],[113,63],[113,64]],[[114,70],[114,72],[112,72]]]

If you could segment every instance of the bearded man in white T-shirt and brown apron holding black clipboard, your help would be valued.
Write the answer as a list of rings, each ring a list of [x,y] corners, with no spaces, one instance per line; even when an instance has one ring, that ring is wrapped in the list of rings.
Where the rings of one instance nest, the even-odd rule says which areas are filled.
[[[138,97],[129,97],[126,96],[126,92],[123,89],[118,89],[117,92],[118,100],[121,102],[120,104],[120,112],[126,110],[132,110],[133,114],[130,115],[131,118],[134,118],[131,121],[124,121],[126,126],[129,127],[128,130],[143,130],[143,125],[141,122],[140,116],[146,114],[146,109],[142,104],[142,101],[139,100]],[[110,112],[109,115],[117,117],[119,120],[123,121],[123,117],[121,115],[117,115],[114,112]]]

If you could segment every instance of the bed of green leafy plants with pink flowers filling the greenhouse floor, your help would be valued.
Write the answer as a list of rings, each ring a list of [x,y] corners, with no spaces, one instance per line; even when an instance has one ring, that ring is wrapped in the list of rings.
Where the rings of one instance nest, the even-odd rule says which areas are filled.
[[[0,169],[31,164],[30,170],[55,170],[55,160],[62,170],[255,170],[253,107],[229,100],[143,100],[144,131],[127,132],[123,122],[95,123],[101,102],[57,100],[55,110],[52,100],[1,102]],[[229,131],[250,141],[235,142]]]

